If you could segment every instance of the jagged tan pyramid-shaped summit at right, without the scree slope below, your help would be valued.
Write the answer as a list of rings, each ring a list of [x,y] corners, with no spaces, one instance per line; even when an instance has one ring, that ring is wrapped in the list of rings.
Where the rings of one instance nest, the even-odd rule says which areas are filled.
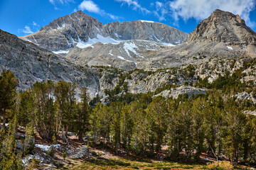
[[[239,15],[216,9],[188,35],[186,42],[224,42],[227,45],[256,45],[256,33]]]

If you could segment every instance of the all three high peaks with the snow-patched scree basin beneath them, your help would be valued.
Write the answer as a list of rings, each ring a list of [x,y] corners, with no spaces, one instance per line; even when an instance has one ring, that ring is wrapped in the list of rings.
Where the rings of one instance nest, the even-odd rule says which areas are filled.
[[[171,40],[182,42],[185,37],[174,28],[151,21],[117,22],[103,26],[97,19],[78,11],[58,18],[38,33],[23,39],[55,50],[70,47],[55,53],[60,53],[75,64],[125,70],[157,70],[183,64],[201,64],[213,57],[256,57],[256,33],[245,25],[240,16],[229,12],[215,10],[198,24],[186,42],[175,47],[156,43]]]

